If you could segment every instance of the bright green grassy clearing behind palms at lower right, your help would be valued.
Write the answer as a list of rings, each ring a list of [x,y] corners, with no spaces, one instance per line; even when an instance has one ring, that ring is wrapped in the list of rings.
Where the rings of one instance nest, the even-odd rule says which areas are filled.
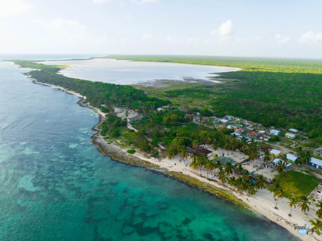
[[[281,187],[286,193],[286,198],[307,197],[317,184],[322,181],[317,177],[306,175],[298,171],[283,172],[278,177]]]

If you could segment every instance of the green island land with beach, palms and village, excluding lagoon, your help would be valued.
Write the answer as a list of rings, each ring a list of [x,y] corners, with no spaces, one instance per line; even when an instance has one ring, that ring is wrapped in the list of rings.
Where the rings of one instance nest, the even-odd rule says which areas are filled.
[[[250,207],[293,233],[294,223],[309,222],[310,229],[320,234],[320,61],[109,58],[243,70],[221,73],[214,78],[221,84],[163,80],[156,86],[123,86],[57,74],[67,66],[8,61],[34,69],[29,75],[37,83],[79,93],[80,104],[101,115],[94,144],[115,160],[164,171]],[[317,239],[316,234],[304,237]]]

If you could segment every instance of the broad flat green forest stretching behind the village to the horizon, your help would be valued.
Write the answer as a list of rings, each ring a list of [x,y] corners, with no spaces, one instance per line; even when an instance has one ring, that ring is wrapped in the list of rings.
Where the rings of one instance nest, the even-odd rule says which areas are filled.
[[[204,85],[203,90],[165,90],[164,97],[196,98],[213,95],[205,102],[216,116],[242,117],[264,126],[296,128],[316,138],[322,135],[322,61],[237,57],[110,56],[136,61],[177,62],[239,67],[221,73],[221,79],[238,81],[222,89]],[[232,82],[230,82],[232,83]],[[220,91],[219,91],[220,90]],[[162,97],[162,95],[158,95]],[[322,138],[321,138],[322,140]]]

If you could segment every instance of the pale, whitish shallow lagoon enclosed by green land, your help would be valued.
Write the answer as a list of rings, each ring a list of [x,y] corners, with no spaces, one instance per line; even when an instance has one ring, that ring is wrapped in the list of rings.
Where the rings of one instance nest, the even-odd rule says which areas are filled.
[[[163,62],[138,62],[115,59],[46,61],[43,63],[69,65],[71,68],[60,71],[60,74],[67,77],[121,85],[136,84],[155,79],[208,79],[207,77],[218,76],[210,73],[239,70],[219,66]]]

